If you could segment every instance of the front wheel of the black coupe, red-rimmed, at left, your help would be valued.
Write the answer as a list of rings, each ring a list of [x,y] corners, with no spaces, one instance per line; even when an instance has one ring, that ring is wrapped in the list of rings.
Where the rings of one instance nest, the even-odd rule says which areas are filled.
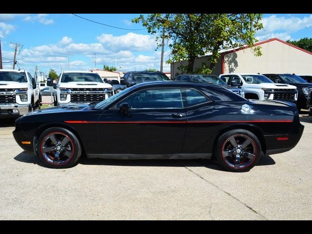
[[[71,131],[52,127],[45,130],[38,138],[37,154],[41,162],[49,168],[69,168],[78,162],[81,156],[81,145]]]

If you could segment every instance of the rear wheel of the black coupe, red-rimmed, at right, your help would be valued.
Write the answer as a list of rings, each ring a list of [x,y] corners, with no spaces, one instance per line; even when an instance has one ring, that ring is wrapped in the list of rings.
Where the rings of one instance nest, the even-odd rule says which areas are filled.
[[[235,129],[218,138],[214,156],[227,171],[247,172],[259,162],[261,153],[260,141],[252,132]]]

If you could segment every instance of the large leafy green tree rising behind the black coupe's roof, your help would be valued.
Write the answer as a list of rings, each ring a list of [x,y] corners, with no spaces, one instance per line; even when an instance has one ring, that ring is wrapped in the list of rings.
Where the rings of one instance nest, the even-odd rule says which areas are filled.
[[[252,46],[257,42],[256,31],[263,28],[261,19],[262,14],[149,14],[132,22],[141,22],[151,34],[161,35],[164,29],[165,38],[171,41],[167,63],[187,60],[188,65],[179,68],[192,73],[197,57],[211,53],[209,67],[202,70],[212,72],[220,49]],[[253,47],[255,56],[261,55],[260,48]]]

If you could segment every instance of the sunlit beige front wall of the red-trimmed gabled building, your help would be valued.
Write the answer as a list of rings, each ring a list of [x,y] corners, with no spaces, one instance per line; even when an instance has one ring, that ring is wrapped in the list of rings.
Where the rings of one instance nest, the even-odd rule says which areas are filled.
[[[260,46],[260,57],[251,48],[224,55],[224,72],[312,74],[312,55],[277,40]]]

